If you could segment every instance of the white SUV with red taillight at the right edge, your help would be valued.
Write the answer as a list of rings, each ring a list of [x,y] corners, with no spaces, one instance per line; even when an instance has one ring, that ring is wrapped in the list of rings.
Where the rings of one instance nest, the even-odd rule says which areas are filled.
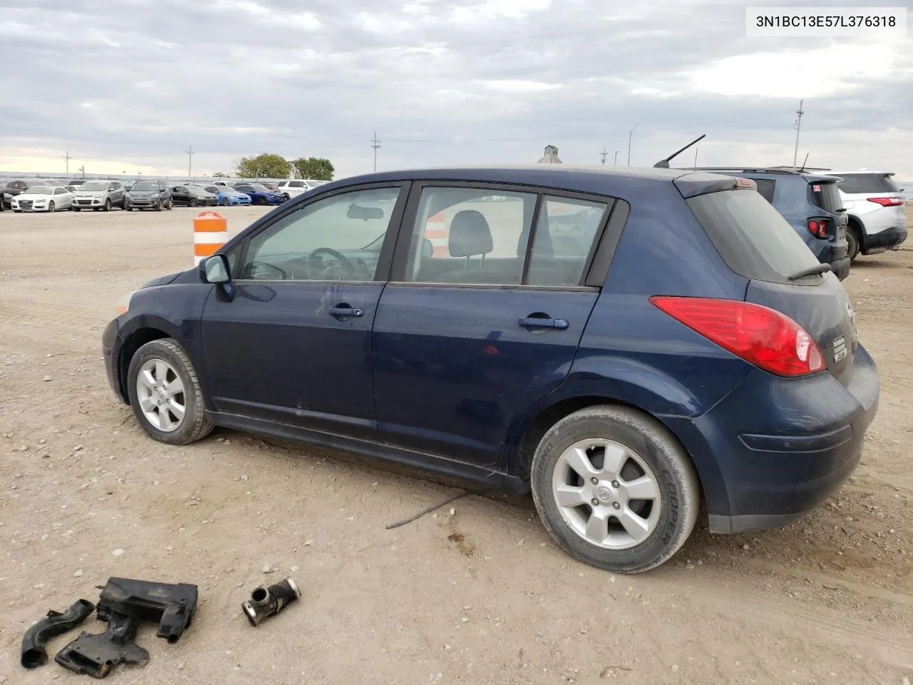
[[[837,189],[846,207],[850,258],[899,248],[907,239],[907,216],[904,196],[891,178],[894,174],[867,170],[828,174],[843,179]]]

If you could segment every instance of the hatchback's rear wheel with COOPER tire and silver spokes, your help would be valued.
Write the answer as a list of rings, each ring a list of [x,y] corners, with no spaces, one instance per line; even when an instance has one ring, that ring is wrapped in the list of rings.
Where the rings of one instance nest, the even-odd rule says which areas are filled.
[[[621,467],[614,477],[597,468],[603,463],[598,448],[572,450],[599,440],[609,441],[613,455],[624,455],[615,459]],[[565,455],[575,453],[593,457],[593,461],[585,458],[587,468],[593,469],[582,469],[592,474],[587,479],[568,465]],[[577,459],[577,463],[583,462]],[[624,486],[635,479],[644,484],[648,484],[644,479],[652,480],[652,492],[638,493],[650,494],[649,499],[626,497]],[[687,452],[666,427],[628,407],[591,406],[558,421],[536,448],[531,481],[536,510],[561,549],[585,564],[615,573],[642,573],[663,564],[685,543],[698,520],[700,484]],[[564,507],[556,500],[556,487],[571,498]],[[581,503],[575,505],[578,492]],[[599,499],[594,499],[597,495]],[[599,503],[593,506],[593,501]],[[598,532],[591,539],[585,537],[586,522],[595,511],[606,520],[601,543],[593,542],[603,534],[599,526],[593,526]],[[618,519],[613,521],[613,511],[626,512],[626,521],[642,524],[631,527],[642,530],[638,536],[644,534],[644,538],[638,542]]]

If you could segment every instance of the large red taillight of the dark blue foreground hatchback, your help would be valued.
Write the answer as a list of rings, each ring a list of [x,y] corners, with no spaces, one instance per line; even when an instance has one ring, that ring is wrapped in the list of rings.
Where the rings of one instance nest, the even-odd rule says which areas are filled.
[[[736,300],[654,296],[650,301],[691,330],[771,374],[799,376],[826,368],[818,343],[779,311]]]

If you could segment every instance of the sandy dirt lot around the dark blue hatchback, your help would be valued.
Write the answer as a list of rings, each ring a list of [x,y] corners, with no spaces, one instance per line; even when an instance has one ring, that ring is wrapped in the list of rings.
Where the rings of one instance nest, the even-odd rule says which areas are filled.
[[[232,230],[260,213],[222,211]],[[913,677],[913,250],[845,281],[883,384],[845,488],[785,530],[698,532],[656,572],[616,576],[561,553],[528,499],[467,498],[387,531],[457,490],[236,433],[145,437],[110,393],[101,329],[125,292],[190,266],[194,213],[0,214],[0,682],[80,678],[21,669],[20,640],[110,575],[202,598],[178,644],[142,628],[152,659],[118,682]],[[283,574],[302,600],[250,627],[240,603]]]

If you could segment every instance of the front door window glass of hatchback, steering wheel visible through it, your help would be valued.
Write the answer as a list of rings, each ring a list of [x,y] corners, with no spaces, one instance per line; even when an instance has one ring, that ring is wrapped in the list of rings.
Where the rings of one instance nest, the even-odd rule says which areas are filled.
[[[400,188],[331,195],[250,238],[241,279],[371,281]]]

